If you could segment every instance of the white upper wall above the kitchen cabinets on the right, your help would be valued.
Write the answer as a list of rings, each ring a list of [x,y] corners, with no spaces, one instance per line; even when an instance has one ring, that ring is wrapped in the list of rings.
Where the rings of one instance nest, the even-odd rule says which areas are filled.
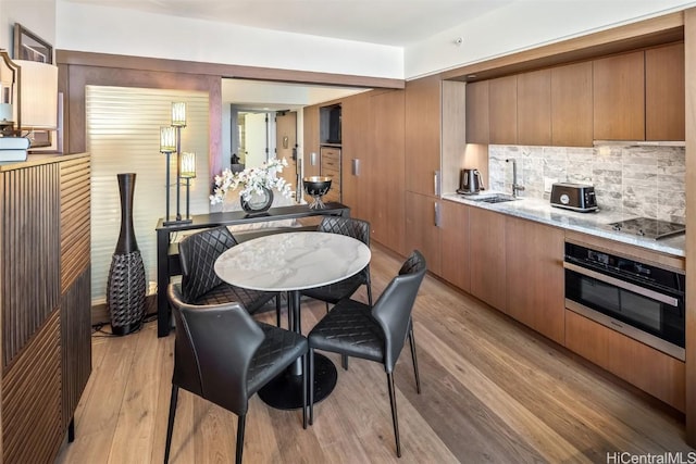
[[[408,47],[403,74],[410,79],[694,5],[684,0],[513,2]]]

